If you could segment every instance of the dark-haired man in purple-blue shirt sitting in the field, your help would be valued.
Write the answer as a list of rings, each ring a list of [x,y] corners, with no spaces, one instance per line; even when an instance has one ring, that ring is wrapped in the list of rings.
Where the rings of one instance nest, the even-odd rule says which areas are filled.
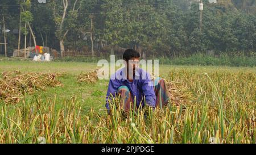
[[[110,102],[112,97],[121,95],[120,107],[125,112],[129,112],[133,108],[136,96],[136,108],[140,104],[142,107],[146,104],[150,107],[157,107],[160,104],[166,106],[168,104],[168,93],[166,84],[162,78],[151,80],[151,76],[146,71],[139,68],[140,55],[134,49],[127,49],[123,53],[125,60],[125,68],[117,70],[110,77],[108,93],[106,95],[106,108],[110,112]]]

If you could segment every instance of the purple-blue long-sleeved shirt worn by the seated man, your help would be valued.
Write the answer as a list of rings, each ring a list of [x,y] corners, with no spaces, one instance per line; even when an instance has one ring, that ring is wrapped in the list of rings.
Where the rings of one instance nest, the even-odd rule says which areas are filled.
[[[133,82],[130,82],[126,77],[125,69],[126,68],[117,70],[117,72],[110,77],[108,93],[106,95],[106,108],[108,110],[110,109],[108,103],[108,99],[111,97],[110,94],[115,97],[118,88],[121,86],[127,86],[132,97],[134,98],[136,96],[137,107],[139,107],[144,96],[148,106],[155,107],[156,96],[150,74],[145,72],[143,69],[138,69],[135,72]],[[142,102],[142,106],[144,106],[144,100]]]

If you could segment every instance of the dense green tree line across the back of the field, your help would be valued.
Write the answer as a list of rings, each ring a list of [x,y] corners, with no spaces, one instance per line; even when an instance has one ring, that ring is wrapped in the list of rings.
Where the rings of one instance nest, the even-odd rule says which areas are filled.
[[[200,31],[199,3],[188,0],[1,0],[0,43],[6,41],[9,53],[43,45],[61,56],[83,47],[96,55],[106,45],[136,48],[143,57],[256,51],[254,13],[238,1],[203,2]]]

